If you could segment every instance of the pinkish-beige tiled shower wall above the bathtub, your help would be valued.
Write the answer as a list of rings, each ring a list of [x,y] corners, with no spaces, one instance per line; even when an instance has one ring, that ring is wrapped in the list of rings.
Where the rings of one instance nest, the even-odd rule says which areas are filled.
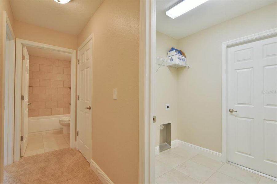
[[[71,62],[30,56],[29,117],[70,114]]]

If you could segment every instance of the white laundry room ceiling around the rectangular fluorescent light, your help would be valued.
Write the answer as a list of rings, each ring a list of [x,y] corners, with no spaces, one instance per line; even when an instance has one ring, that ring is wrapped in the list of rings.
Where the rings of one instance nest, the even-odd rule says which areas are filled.
[[[165,11],[178,2],[180,1],[159,0],[156,2],[156,30],[175,39],[183,38],[276,1],[210,0],[172,19],[165,14]]]

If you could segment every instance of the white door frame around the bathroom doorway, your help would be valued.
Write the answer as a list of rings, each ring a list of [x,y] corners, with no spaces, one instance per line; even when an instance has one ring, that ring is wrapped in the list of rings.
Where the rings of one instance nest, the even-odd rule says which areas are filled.
[[[22,78],[22,47],[23,45],[50,49],[71,54],[71,95],[70,95],[70,148],[75,148],[75,100],[76,100],[76,51],[29,40],[16,39],[15,56],[15,109],[14,109],[14,161],[20,159],[20,124],[21,124],[21,78]]]

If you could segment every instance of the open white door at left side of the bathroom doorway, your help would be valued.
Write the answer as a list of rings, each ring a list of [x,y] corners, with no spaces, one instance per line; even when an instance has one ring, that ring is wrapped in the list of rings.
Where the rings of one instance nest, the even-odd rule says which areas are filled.
[[[29,54],[26,46],[22,51],[22,90],[21,90],[21,156],[28,144],[28,103],[29,103]]]

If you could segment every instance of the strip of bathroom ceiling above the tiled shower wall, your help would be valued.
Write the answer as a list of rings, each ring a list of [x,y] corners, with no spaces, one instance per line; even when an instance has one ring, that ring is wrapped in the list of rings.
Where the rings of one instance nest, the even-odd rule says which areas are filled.
[[[30,47],[30,46],[26,46],[26,48],[30,56],[38,56],[38,57],[45,57],[45,58],[51,58],[51,59],[59,59],[64,61],[71,61],[71,54],[68,54],[68,53],[57,52],[49,49]]]

